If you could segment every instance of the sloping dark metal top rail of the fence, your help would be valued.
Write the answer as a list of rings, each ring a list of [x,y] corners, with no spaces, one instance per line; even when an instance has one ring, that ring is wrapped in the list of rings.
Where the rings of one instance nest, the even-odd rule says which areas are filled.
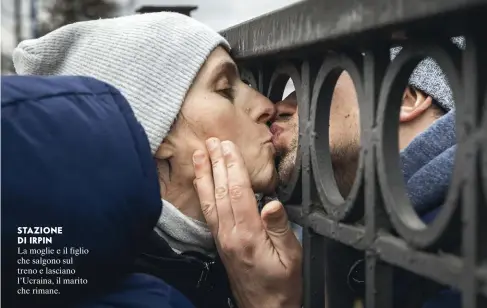
[[[425,17],[460,14],[482,5],[485,7],[487,0],[308,0],[228,28],[221,34],[230,42],[237,59],[247,59]]]

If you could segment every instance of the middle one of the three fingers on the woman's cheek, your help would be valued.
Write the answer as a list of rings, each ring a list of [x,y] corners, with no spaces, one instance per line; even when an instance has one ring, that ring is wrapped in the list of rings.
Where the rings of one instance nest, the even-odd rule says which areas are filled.
[[[206,141],[210,154],[213,171],[213,185],[215,187],[215,203],[218,213],[218,232],[229,232],[235,226],[232,204],[228,195],[228,177],[221,142],[217,138]]]

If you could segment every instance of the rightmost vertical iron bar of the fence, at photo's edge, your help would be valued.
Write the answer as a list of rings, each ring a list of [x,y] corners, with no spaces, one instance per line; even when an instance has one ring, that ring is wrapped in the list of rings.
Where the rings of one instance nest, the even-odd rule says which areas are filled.
[[[475,30],[474,30],[475,31]],[[462,57],[462,80],[464,90],[464,123],[465,133],[468,136],[464,149],[465,165],[464,186],[462,188],[462,250],[464,256],[464,270],[462,281],[462,305],[463,307],[480,308],[487,306],[487,300],[480,295],[479,281],[476,276],[477,266],[485,257],[485,243],[482,235],[486,234],[485,205],[481,202],[480,170],[479,163],[480,140],[475,135],[475,129],[480,127],[480,115],[482,114],[482,100],[485,91],[485,78],[482,70],[485,61],[482,56],[486,51],[482,48],[481,36],[469,33],[466,37],[466,49]],[[485,132],[484,132],[485,133]]]

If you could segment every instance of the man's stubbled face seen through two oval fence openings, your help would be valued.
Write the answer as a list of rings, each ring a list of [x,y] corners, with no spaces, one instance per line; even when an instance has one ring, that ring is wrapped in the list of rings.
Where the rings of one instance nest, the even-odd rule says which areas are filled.
[[[281,184],[289,181],[298,149],[298,106],[293,92],[276,104],[277,116],[271,126],[273,143],[279,155]],[[319,119],[317,119],[318,121]],[[353,184],[360,150],[360,124],[357,94],[350,75],[338,78],[330,109],[330,150],[335,178],[342,195]]]

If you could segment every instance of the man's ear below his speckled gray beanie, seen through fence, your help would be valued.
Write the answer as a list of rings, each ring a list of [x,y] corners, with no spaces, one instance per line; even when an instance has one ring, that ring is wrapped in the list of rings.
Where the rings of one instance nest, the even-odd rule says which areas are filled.
[[[433,103],[431,96],[425,95],[422,91],[408,87],[404,91],[399,122],[405,123],[417,119]]]

